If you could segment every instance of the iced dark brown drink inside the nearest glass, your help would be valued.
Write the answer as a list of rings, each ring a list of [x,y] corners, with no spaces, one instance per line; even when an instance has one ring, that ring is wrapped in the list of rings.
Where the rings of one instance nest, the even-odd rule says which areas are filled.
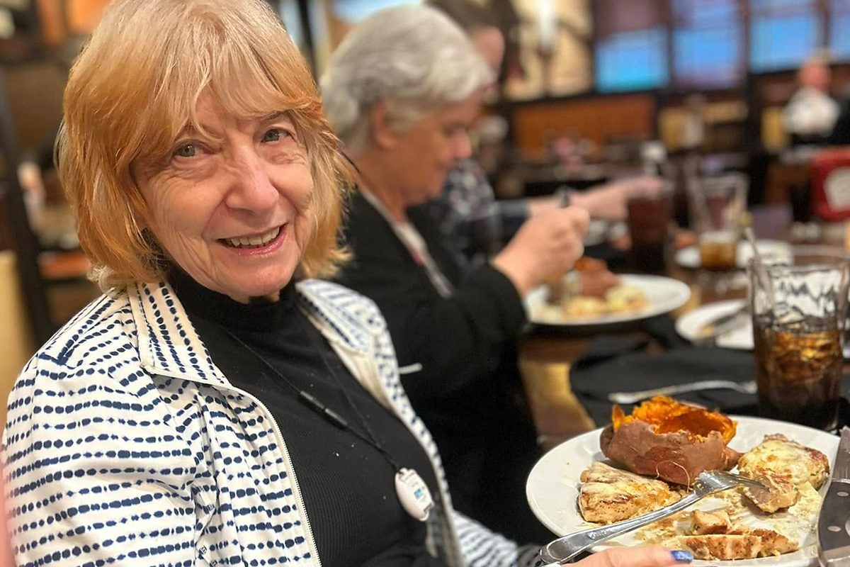
[[[758,407],[763,417],[836,428],[842,376],[841,332],[824,320],[753,321]]]

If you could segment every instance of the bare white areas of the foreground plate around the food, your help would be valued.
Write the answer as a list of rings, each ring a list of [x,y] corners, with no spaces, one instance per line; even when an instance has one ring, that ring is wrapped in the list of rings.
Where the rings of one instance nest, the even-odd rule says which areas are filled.
[[[766,434],[783,434],[802,445],[813,447],[823,452],[830,459],[830,470],[835,464],[838,451],[838,437],[813,428],[803,427],[794,423],[777,422],[759,417],[730,416],[738,422],[737,434],[729,442],[735,451],[749,451],[762,442]],[[599,449],[599,434],[602,429],[596,429],[587,434],[579,435],[547,452],[537,462],[529,473],[525,485],[525,494],[529,505],[537,519],[552,530],[558,537],[579,530],[587,530],[593,524],[587,524],[581,519],[576,504],[579,495],[579,476],[581,471],[591,466],[593,462],[608,462]],[[825,494],[826,485],[820,492]],[[705,501],[703,501],[705,502]],[[699,506],[697,503],[694,506]],[[599,552],[608,547],[635,546],[640,542],[632,534],[620,536],[611,541],[594,547],[592,551]],[[808,567],[818,564],[817,533],[809,534],[805,545],[794,553],[785,553],[779,557],[738,559],[735,561],[694,561],[693,565],[728,564],[734,567],[744,565]]]

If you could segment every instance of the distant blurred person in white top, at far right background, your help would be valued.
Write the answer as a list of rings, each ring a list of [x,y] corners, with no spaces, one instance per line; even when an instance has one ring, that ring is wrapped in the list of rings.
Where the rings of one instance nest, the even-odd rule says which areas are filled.
[[[785,131],[793,145],[824,144],[841,111],[830,96],[832,74],[823,55],[807,60],[797,71],[797,90],[782,111]]]

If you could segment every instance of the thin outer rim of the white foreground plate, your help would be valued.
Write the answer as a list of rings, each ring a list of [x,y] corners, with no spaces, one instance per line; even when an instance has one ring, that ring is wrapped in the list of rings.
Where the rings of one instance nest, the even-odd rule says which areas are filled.
[[[742,420],[745,421],[745,422],[751,422],[751,427],[758,427],[759,424],[762,424],[762,428],[769,428],[770,424],[779,423],[783,427],[786,427],[786,428],[787,427],[801,428],[804,431],[814,433],[814,434],[819,434],[818,436],[824,435],[825,437],[828,437],[829,439],[832,439],[835,442],[836,451],[837,451],[839,440],[840,440],[836,435],[830,434],[829,432],[822,431],[822,430],[816,429],[816,428],[810,428],[806,425],[800,425],[799,423],[782,422],[782,421],[779,421],[779,420],[776,420],[776,419],[769,419],[767,417],[740,416],[740,415],[737,415],[737,414],[728,414],[728,417],[733,419],[734,421],[736,421],[737,425],[739,425],[739,426],[740,426],[740,422]],[[550,522],[550,520],[547,517],[544,517],[544,514],[541,513],[539,511],[539,509],[537,509],[537,507],[536,507],[536,495],[532,495],[531,488],[530,488],[532,477],[535,475],[535,472],[538,470],[538,468],[541,467],[541,462],[544,462],[544,460],[547,458],[547,455],[554,453],[555,451],[558,451],[558,450],[564,451],[565,448],[568,447],[569,445],[577,445],[579,439],[583,439],[585,437],[590,439],[591,437],[595,436],[595,438],[597,439],[597,446],[598,446],[599,434],[602,433],[603,429],[604,429],[604,427],[596,428],[596,429],[593,429],[592,431],[587,431],[583,434],[576,435],[575,437],[573,437],[571,439],[567,439],[564,442],[559,443],[558,445],[554,446],[550,451],[548,451],[546,454],[544,454],[543,456],[541,456],[537,460],[534,467],[531,468],[531,470],[528,473],[528,476],[525,479],[525,498],[526,498],[526,501],[529,504],[529,507],[531,509],[531,513],[533,513],[535,515],[536,519],[541,524],[543,524],[548,530],[553,532],[553,539],[560,537],[560,536],[558,536],[560,531],[556,530],[553,527],[554,523]],[[602,450],[599,449],[599,451],[602,451]],[[836,456],[835,456],[835,454],[829,454],[826,457],[830,462],[830,474],[831,474],[831,470],[835,466],[835,457]],[[549,457],[549,458],[553,458],[553,457]],[[824,486],[821,487],[821,489],[819,491],[821,493],[823,493],[823,491],[828,486],[828,484],[829,483],[827,482]],[[609,546],[609,545],[605,545],[603,543],[603,544],[600,544],[598,546],[592,547],[590,552],[591,553],[598,553],[598,552],[604,551],[604,549],[608,549],[610,547],[616,547],[616,546]],[[753,567],[762,566],[762,565],[776,565],[776,566],[781,566],[781,567],[803,567],[803,566],[808,566],[808,565],[817,565],[818,564],[817,551],[815,550],[815,553],[812,555],[812,553],[810,553],[812,551],[811,547],[812,546],[804,547],[802,550],[800,550],[804,553],[806,552],[806,550],[809,551],[809,553],[806,553],[802,558],[800,558],[800,557],[789,558],[786,561],[782,561],[781,556],[771,557],[771,558],[756,558],[756,559],[727,559],[727,560],[694,559],[694,562],[692,563],[692,565],[694,565],[694,567],[699,567],[700,565],[717,565],[717,564],[728,565],[729,567],[739,567],[739,566],[744,566],[744,565],[753,566]]]

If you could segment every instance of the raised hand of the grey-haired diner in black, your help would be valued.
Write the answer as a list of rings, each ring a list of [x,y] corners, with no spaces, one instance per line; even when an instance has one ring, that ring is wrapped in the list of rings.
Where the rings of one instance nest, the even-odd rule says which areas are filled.
[[[532,217],[493,259],[493,266],[507,275],[520,297],[524,297],[581,258],[589,222],[587,211],[580,207],[559,208]]]

